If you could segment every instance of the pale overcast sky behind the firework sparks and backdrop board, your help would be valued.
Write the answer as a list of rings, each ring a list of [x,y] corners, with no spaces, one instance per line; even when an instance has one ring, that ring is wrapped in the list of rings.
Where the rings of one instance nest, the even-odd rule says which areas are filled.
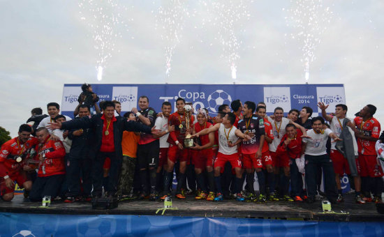
[[[89,3],[0,1],[0,125],[12,137],[32,108],[42,107],[46,113],[47,102],[61,104],[64,84],[232,84],[218,26],[202,24],[214,19],[201,4],[210,1],[183,1],[189,17],[184,17],[169,77],[164,53],[168,43],[161,38],[161,27],[156,29],[158,8],[169,1],[119,1],[113,13],[120,13],[124,24],[115,27],[121,37],[108,52],[101,82],[96,79],[99,57],[89,26],[92,17],[79,2]],[[283,10],[296,1],[243,2],[249,19],[242,17],[235,24],[235,36],[242,42],[237,83],[303,84],[302,42],[290,38],[295,31],[287,26],[290,14]],[[376,118],[384,123],[384,1],[323,1],[323,6],[330,7],[332,19],[320,25],[324,32],[313,50],[309,83],[344,84],[349,116],[370,103],[378,107]]]

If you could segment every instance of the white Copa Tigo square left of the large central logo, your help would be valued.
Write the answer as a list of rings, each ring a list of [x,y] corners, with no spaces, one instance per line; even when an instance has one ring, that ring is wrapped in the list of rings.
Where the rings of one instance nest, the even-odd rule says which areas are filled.
[[[114,86],[112,100],[121,103],[121,111],[131,111],[133,107],[138,107],[138,86]]]

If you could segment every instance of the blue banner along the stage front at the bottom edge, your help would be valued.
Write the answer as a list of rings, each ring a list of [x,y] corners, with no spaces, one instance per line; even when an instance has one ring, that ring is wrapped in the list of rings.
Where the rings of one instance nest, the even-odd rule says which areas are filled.
[[[383,222],[0,213],[1,236],[384,236]]]

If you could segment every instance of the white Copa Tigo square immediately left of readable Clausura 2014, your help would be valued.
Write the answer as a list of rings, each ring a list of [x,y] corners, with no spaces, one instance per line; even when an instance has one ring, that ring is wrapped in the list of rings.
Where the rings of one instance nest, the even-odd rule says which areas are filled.
[[[274,112],[274,108],[282,107],[284,112],[290,110],[289,87],[264,87],[264,102],[267,112]]]

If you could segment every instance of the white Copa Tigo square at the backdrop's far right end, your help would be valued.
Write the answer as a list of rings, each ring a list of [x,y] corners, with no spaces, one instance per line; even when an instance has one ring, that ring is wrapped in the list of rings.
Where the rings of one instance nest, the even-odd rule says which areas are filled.
[[[329,105],[328,108],[331,110],[338,104],[346,104],[344,87],[318,87],[316,91],[318,102]],[[318,108],[318,112],[321,112],[320,108]]]

